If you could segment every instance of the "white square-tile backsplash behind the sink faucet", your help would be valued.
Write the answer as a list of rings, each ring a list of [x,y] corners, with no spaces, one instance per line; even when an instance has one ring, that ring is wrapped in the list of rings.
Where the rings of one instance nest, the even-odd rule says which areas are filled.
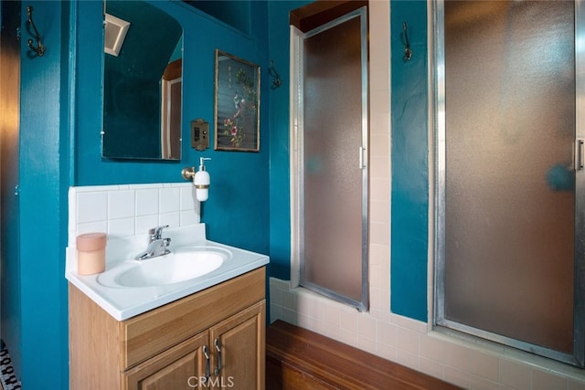
[[[199,223],[191,183],[94,185],[69,188],[69,247],[82,233],[146,235],[152,227]]]

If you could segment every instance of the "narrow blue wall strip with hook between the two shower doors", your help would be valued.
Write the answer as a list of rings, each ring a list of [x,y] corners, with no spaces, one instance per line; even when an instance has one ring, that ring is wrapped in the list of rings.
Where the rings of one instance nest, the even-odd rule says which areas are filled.
[[[429,125],[427,4],[391,4],[392,312],[427,321],[429,229]],[[402,23],[408,26],[410,61],[402,59]]]

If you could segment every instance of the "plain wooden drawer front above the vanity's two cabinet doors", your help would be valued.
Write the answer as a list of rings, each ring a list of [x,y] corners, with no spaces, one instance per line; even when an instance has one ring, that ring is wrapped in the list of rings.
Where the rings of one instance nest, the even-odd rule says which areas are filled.
[[[121,370],[161,353],[263,300],[265,268],[120,322]]]

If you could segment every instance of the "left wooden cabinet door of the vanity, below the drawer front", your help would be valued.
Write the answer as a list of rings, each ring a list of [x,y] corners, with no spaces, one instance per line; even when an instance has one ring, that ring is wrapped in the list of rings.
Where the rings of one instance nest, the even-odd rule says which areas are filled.
[[[205,384],[208,332],[154,356],[122,374],[127,390],[181,390]]]

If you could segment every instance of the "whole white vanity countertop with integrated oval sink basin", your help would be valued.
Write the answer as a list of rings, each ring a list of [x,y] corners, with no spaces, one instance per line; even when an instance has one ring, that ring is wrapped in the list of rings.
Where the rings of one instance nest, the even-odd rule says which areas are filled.
[[[134,259],[147,245],[144,235],[108,237],[106,270],[95,275],[78,273],[77,250],[69,247],[65,276],[114,319],[124,321],[270,262],[261,253],[207,240],[205,224],[169,228],[166,234],[171,253],[147,260]]]

